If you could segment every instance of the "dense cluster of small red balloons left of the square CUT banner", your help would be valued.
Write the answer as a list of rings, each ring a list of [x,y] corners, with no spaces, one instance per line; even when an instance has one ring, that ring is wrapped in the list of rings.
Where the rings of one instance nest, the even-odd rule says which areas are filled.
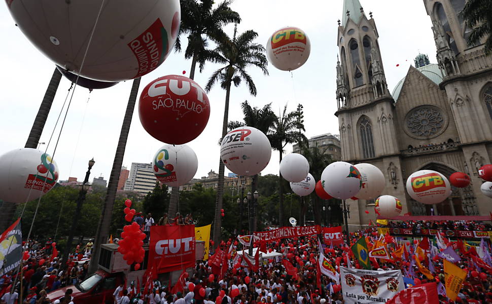
[[[136,222],[123,227],[121,240],[118,243],[118,251],[123,254],[123,259],[128,265],[134,262],[142,263],[144,261],[145,250],[142,248],[142,245],[144,245],[145,237],[145,233],[140,231],[140,225]],[[140,268],[140,265],[138,265],[138,268]]]

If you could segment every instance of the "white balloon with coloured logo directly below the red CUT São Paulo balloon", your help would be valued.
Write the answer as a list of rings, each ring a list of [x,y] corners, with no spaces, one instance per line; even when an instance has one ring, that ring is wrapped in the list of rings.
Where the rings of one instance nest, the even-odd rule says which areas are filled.
[[[154,155],[152,166],[160,182],[177,187],[188,183],[195,176],[198,159],[195,151],[186,144],[165,144]]]

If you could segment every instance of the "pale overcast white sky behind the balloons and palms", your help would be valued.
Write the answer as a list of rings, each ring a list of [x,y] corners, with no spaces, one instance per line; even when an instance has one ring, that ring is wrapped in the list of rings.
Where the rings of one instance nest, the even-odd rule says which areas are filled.
[[[408,71],[413,58],[420,52],[429,55],[436,62],[436,49],[433,40],[431,21],[422,0],[361,0],[364,11],[373,13],[379,33],[379,46],[390,92]],[[339,134],[337,109],[336,61],[337,20],[342,19],[342,0],[235,0],[232,9],[241,16],[238,31],[253,29],[258,32],[257,43],[266,45],[269,36],[278,28],[296,26],[303,29],[311,41],[311,53],[307,62],[291,73],[268,66],[265,76],[258,68],[250,68],[258,94],[251,96],[244,85],[231,90],[229,120],[242,120],[240,103],[248,100],[253,106],[262,107],[270,103],[279,113],[288,105],[288,110],[304,106],[305,135],[313,136],[332,133]],[[233,25],[225,28],[232,35]],[[0,9],[0,74],[2,94],[0,94],[0,155],[20,147],[31,129],[39,105],[53,73],[54,64],[34,47],[22,34],[10,16],[7,7]],[[182,39],[186,43],[186,39]],[[186,45],[183,45],[183,49]],[[399,65],[399,66],[397,66]],[[166,61],[142,78],[138,97],[142,89],[156,78],[167,74],[189,75],[191,60],[183,53],[171,53]],[[208,77],[219,65],[207,63],[202,73],[195,74],[195,81],[203,88]],[[131,81],[104,89],[75,89],[71,107],[63,126],[54,160],[60,172],[60,180],[69,176],[82,180],[87,163],[94,158],[95,165],[91,178],[103,176],[109,179],[121,124],[128,101]],[[53,154],[56,138],[60,134],[60,124],[56,127],[53,139],[47,143],[55,127],[63,101],[67,96],[70,82],[64,78],[60,82],[50,115],[46,122],[40,142],[40,149]],[[210,118],[200,136],[189,142],[198,158],[196,178],[207,175],[210,170],[218,172],[219,150],[217,140],[222,131],[225,91],[214,87],[208,94]],[[150,163],[157,149],[163,143],[150,136],[140,124],[138,101],[133,112],[132,124],[126,145],[123,165],[131,163]],[[286,147],[286,153],[292,146]],[[272,151],[272,158],[262,174],[278,174],[278,152]],[[1,170],[1,169],[0,169]],[[226,174],[229,171],[226,169]]]

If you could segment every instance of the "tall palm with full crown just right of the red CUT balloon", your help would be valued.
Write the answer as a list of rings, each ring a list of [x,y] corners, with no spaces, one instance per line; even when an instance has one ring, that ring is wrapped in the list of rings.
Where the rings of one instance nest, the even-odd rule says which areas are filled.
[[[224,66],[216,70],[208,79],[205,90],[208,92],[212,87],[220,83],[222,89],[226,90],[226,100],[224,106],[224,121],[222,123],[222,135],[227,133],[227,122],[229,117],[229,98],[231,96],[231,86],[239,86],[244,81],[250,91],[250,94],[256,96],[258,93],[255,83],[246,69],[250,66],[260,68],[265,75],[268,75],[267,60],[265,48],[261,44],[254,43],[258,33],[254,30],[247,30],[237,34],[237,25],[234,27],[232,39],[225,36],[225,39],[219,43],[219,46],[210,52],[210,57],[216,63]],[[217,201],[214,218],[214,240],[220,239],[222,195],[224,193],[224,164],[219,159],[219,184],[217,189]]]

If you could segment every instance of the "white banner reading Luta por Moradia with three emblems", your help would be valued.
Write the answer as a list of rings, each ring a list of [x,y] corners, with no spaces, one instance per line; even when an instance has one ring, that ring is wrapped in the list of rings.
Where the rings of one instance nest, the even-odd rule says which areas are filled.
[[[401,271],[374,271],[340,267],[345,304],[385,303],[403,290]]]

